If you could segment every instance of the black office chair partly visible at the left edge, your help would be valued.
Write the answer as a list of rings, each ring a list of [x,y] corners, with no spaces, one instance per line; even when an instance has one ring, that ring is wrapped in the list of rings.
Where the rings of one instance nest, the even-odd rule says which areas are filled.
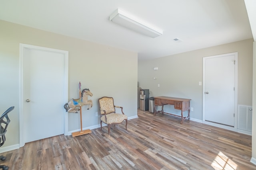
[[[0,147],[4,145],[5,142],[5,134],[7,131],[8,124],[10,123],[10,119],[8,117],[8,113],[14,109],[14,106],[7,109],[0,117]],[[4,120],[5,118],[5,120]],[[0,156],[0,160],[6,160],[5,156]],[[0,165],[0,169],[8,170],[9,167],[5,165]]]

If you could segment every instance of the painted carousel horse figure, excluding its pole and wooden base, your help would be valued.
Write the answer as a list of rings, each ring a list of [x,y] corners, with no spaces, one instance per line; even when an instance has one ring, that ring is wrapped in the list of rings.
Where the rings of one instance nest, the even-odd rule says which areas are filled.
[[[88,88],[85,88],[81,92],[80,99],[71,99],[64,105],[64,108],[66,111],[74,113],[78,113],[77,111],[80,110],[80,107],[84,105],[89,105],[88,109],[90,109],[92,107],[92,100],[88,100],[87,95],[91,97],[93,96],[92,92],[90,92]]]

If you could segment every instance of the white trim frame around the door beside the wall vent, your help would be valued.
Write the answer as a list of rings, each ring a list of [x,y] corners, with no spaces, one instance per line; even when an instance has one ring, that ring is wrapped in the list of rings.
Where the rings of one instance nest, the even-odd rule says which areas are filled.
[[[230,126],[226,126],[226,125],[221,125],[221,124],[218,124],[218,123],[212,123],[212,122],[208,122],[208,121],[205,121],[205,62],[206,62],[206,59],[211,59],[211,58],[216,58],[216,57],[224,57],[224,56],[230,56],[230,55],[234,55],[235,57],[235,82],[234,82],[234,88],[235,88],[235,94],[234,94],[234,112],[235,112],[235,116],[234,116],[234,127],[230,127]],[[203,108],[202,108],[202,111],[203,111],[203,117],[202,117],[202,123],[204,124],[207,124],[207,125],[212,125],[212,126],[215,126],[215,127],[220,127],[220,128],[223,128],[223,129],[228,129],[228,130],[231,130],[231,131],[237,131],[237,91],[238,91],[238,52],[234,52],[234,53],[226,53],[226,54],[221,54],[221,55],[213,55],[213,56],[209,56],[209,57],[203,57],[203,89],[202,89],[202,99],[203,99]]]

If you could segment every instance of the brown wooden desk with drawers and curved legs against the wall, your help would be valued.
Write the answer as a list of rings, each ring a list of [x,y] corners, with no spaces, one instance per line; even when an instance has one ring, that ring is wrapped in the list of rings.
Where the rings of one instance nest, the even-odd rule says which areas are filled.
[[[180,115],[174,115],[181,117],[181,124],[183,123],[183,120],[188,118],[190,120],[190,100],[191,99],[182,99],[182,98],[172,98],[172,97],[166,97],[166,96],[159,96],[154,97],[154,116],[156,113],[166,113],[169,115],[174,115],[172,113],[164,112],[164,105],[170,104],[174,105],[174,109],[181,110],[181,116]],[[156,106],[162,106],[162,110],[156,111]],[[188,110],[188,116],[183,116],[183,111]]]

